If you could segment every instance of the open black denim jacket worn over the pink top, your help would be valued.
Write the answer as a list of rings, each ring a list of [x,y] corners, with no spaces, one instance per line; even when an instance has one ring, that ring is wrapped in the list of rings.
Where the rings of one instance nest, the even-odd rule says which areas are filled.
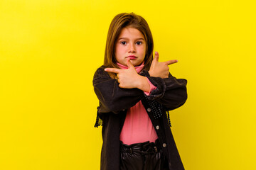
[[[101,169],[119,170],[119,135],[124,125],[127,109],[142,100],[146,112],[159,137],[164,156],[168,160],[169,170],[183,170],[183,164],[169,127],[169,113],[182,106],[187,99],[186,79],[150,77],[149,72],[142,70],[140,75],[147,77],[156,89],[149,96],[140,89],[122,89],[116,79],[111,79],[104,71],[105,66],[95,72],[93,86],[99,98],[97,121],[95,127],[102,121],[102,153]],[[156,128],[157,127],[157,128]]]

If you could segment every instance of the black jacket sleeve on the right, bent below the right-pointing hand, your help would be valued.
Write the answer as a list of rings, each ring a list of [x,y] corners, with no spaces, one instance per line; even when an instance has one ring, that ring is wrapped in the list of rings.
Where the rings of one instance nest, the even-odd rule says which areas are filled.
[[[146,98],[161,103],[167,111],[174,110],[186,102],[188,98],[186,79],[176,79],[171,74],[169,74],[169,78],[165,79],[161,77],[150,77],[148,72],[144,74],[146,74],[146,77],[151,81],[151,84],[156,86],[156,89],[151,91],[149,96],[145,95]]]

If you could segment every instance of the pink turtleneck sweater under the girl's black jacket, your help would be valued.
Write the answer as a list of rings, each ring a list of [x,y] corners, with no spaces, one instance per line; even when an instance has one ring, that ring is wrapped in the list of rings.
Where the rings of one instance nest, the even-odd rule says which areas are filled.
[[[127,69],[126,66],[119,63],[117,64],[120,69]],[[139,73],[142,71],[143,67],[144,62],[141,65],[135,67],[135,69]],[[151,84],[149,79],[148,82],[150,85],[150,91],[156,89],[156,86]],[[150,94],[150,92],[144,93],[146,95]],[[134,143],[146,141],[155,142],[156,139],[158,139],[156,130],[154,130],[149,115],[146,113],[146,110],[142,105],[142,101],[139,101],[135,106],[132,106],[132,108],[129,108],[127,111],[127,115],[124,120],[124,126],[120,134],[120,140],[126,145],[131,145]]]

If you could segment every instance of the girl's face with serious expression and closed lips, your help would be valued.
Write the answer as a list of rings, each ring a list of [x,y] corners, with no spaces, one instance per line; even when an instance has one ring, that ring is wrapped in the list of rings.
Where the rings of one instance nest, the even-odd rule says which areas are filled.
[[[120,64],[127,66],[127,58],[134,66],[142,64],[146,55],[144,35],[136,28],[123,28],[115,45],[114,55]]]

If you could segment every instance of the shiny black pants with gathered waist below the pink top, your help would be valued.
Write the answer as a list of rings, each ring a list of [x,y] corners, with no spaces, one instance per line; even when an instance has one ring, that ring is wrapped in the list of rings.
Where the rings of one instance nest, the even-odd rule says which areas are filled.
[[[166,162],[159,141],[120,144],[120,170],[165,170]]]

